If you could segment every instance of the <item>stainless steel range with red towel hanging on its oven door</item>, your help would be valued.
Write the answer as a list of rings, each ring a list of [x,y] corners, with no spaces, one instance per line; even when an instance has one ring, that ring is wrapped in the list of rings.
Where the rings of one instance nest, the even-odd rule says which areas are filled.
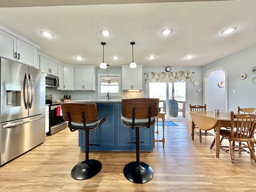
[[[63,120],[60,112],[60,103],[52,102],[52,95],[45,96],[45,104],[49,104],[49,132],[52,135],[67,127],[67,122]]]

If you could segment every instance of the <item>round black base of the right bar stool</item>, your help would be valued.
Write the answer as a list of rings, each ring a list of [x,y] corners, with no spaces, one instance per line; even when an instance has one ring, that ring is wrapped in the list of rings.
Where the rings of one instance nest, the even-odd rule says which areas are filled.
[[[146,183],[153,177],[153,169],[144,162],[140,162],[140,166],[136,166],[136,161],[130,162],[123,172],[126,179],[134,183]]]

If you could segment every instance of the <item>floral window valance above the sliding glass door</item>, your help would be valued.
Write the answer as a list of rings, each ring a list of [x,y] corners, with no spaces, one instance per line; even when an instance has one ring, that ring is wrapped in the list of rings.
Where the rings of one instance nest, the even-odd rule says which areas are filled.
[[[145,83],[162,83],[162,82],[192,82],[192,71],[176,71],[176,72],[146,72]]]

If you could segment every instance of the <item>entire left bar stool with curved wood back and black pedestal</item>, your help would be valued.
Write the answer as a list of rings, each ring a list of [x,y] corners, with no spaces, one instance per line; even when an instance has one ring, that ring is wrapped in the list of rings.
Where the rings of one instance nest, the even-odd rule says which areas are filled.
[[[84,130],[85,132],[85,160],[72,168],[71,176],[76,180],[91,178],[100,172],[102,165],[98,160],[89,160],[89,131],[96,129],[106,120],[106,117],[96,120],[98,110],[95,103],[65,103],[60,106],[63,119],[68,121],[70,131]]]

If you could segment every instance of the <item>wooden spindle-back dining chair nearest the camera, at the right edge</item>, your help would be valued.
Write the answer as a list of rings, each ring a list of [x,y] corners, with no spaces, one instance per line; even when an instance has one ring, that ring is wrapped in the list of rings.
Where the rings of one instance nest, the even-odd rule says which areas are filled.
[[[241,152],[240,148],[249,148],[250,155],[256,163],[254,154],[254,131],[256,128],[256,114],[234,114],[230,112],[230,129],[221,129],[220,136],[223,136],[229,141],[229,151],[231,162],[234,163],[234,151]],[[215,139],[214,141],[215,142]],[[237,146],[235,142],[246,142],[244,145]],[[212,143],[211,147],[214,145]],[[238,148],[238,150],[234,150]]]

